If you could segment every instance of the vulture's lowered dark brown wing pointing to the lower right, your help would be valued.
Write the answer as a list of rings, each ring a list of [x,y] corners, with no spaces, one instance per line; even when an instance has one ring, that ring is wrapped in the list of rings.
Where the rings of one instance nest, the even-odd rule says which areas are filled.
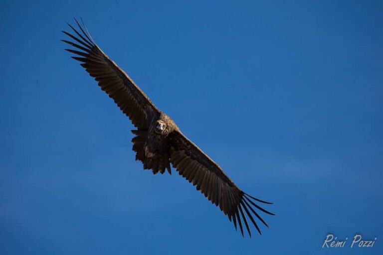
[[[196,185],[196,189],[200,190],[211,203],[219,206],[219,209],[227,215],[229,220],[233,220],[235,229],[237,229],[238,223],[242,236],[243,221],[251,237],[245,215],[261,234],[251,213],[267,226],[254,208],[267,214],[274,214],[264,210],[255,202],[271,203],[254,198],[240,190],[217,163],[203,153],[179,130],[175,130],[170,134],[170,156],[173,167],[190,183]]]

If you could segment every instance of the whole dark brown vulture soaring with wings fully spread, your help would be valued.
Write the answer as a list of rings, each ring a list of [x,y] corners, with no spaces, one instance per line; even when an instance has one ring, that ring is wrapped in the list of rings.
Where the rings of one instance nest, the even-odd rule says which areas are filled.
[[[221,167],[188,139],[175,122],[161,112],[133,80],[97,46],[83,20],[81,19],[81,24],[76,18],[75,21],[77,29],[67,23],[72,33],[62,31],[71,40],[62,41],[73,47],[65,50],[75,54],[72,58],[81,62],[80,65],[94,77],[101,90],[114,100],[135,126],[136,129],[132,130],[135,135],[132,142],[136,160],[140,160],[144,169],[152,170],[153,174],[163,174],[165,170],[171,174],[172,165],[212,204],[219,207],[229,221],[233,222],[235,230],[239,226],[242,237],[244,227],[251,237],[250,221],[261,235],[254,218],[268,227],[258,214],[259,211],[275,214],[263,209],[259,203],[272,203],[252,197],[238,188]]]

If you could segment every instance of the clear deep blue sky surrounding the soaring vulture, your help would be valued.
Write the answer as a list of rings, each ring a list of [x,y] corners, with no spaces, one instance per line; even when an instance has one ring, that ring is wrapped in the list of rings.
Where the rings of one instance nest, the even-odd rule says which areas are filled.
[[[382,13],[2,2],[0,254],[383,254]],[[239,187],[274,202],[261,237],[242,238],[177,172],[134,161],[129,119],[59,41],[74,16]],[[328,233],[378,240],[325,250]]]

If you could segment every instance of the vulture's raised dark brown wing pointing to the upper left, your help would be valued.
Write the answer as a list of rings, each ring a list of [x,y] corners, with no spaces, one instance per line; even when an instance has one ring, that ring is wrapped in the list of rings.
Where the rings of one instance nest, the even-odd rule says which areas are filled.
[[[81,66],[98,81],[101,89],[114,100],[136,128],[148,129],[153,117],[158,116],[160,111],[133,80],[97,46],[84,22],[81,26],[76,19],[75,21],[80,31],[68,24],[75,35],[62,31],[75,42],[62,41],[77,49],[65,50],[76,54],[72,58],[82,62]]]

